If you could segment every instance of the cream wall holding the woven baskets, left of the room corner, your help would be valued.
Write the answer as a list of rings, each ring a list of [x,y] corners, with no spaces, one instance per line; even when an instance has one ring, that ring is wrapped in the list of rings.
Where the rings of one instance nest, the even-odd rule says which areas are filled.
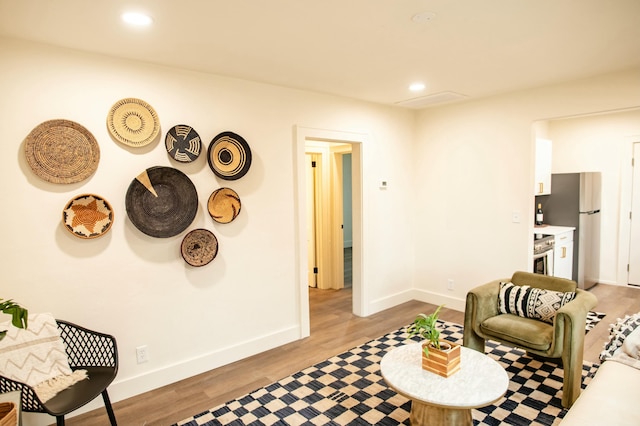
[[[115,335],[121,362],[110,391],[114,401],[300,337],[296,125],[369,135],[362,147],[365,311],[398,295],[411,298],[411,112],[7,39],[0,39],[0,61],[0,297]],[[163,137],[181,123],[194,126],[206,146],[221,131],[242,135],[253,152],[249,173],[221,181],[204,154],[182,165],[170,160],[163,140],[141,149],[116,143],[106,117],[126,97],[155,108]],[[50,184],[26,163],[23,140],[56,118],[82,124],[98,140],[99,167],[83,182]],[[183,170],[199,193],[194,223],[173,238],[142,234],[125,212],[130,182],[154,165]],[[377,186],[382,175],[393,183],[384,192]],[[206,210],[220,186],[242,199],[240,216],[226,225]],[[89,241],[61,224],[65,203],[87,192],[115,210],[110,232]],[[186,265],[179,252],[182,237],[197,227],[212,230],[220,247],[202,268]],[[150,361],[138,365],[135,347],[143,344]]]

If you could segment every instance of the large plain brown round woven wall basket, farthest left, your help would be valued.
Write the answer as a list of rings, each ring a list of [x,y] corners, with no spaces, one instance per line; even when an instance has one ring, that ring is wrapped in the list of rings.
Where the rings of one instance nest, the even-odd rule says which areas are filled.
[[[47,182],[76,183],[91,176],[100,162],[96,138],[69,120],[49,120],[36,126],[25,139],[27,163]]]

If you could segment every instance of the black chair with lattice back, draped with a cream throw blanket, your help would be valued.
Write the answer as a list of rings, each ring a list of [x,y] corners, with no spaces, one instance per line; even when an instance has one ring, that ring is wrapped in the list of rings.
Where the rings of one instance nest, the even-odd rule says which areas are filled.
[[[72,370],[87,370],[88,379],[61,391],[47,402],[41,402],[33,388],[0,375],[0,393],[20,391],[22,411],[47,413],[64,426],[64,416],[93,401],[102,394],[109,421],[116,426],[107,387],[118,372],[116,339],[67,321],[56,320]]]

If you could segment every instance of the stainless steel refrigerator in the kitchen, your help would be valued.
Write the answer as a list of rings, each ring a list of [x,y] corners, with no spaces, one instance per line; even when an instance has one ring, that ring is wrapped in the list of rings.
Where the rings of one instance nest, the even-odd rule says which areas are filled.
[[[544,222],[574,226],[573,274],[580,288],[593,287],[600,276],[600,172],[551,175],[551,195],[543,204]]]

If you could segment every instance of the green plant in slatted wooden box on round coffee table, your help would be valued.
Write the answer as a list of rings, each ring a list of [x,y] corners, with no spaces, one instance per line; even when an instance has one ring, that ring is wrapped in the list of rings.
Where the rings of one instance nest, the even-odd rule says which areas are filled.
[[[440,340],[438,328],[438,308],[430,315],[418,314],[407,327],[409,338],[419,336],[422,343],[422,368],[443,377],[449,377],[460,370],[460,345]]]

